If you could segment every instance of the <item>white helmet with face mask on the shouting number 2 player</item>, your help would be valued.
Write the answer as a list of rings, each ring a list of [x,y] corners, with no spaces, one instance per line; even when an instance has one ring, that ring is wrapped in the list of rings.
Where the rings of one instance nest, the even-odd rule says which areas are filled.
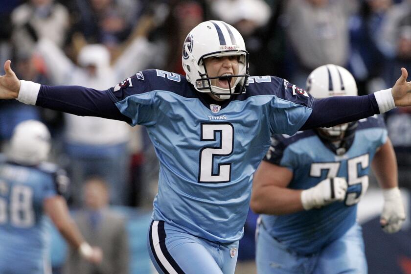
[[[209,57],[239,56],[237,75],[209,77],[204,59]],[[187,35],[183,44],[183,69],[187,81],[200,92],[211,92],[220,99],[244,93],[247,85],[248,58],[244,39],[233,26],[223,21],[206,21],[198,24]],[[230,87],[231,78],[235,79]],[[211,79],[228,80],[228,89],[212,86]]]

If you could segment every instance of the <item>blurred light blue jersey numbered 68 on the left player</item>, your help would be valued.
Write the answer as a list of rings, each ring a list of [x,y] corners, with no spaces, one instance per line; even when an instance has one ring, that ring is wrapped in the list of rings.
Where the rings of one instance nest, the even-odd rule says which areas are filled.
[[[1,274],[50,273],[50,221],[43,211],[43,202],[62,190],[63,185],[57,183],[62,175],[49,163],[23,166],[1,160]]]

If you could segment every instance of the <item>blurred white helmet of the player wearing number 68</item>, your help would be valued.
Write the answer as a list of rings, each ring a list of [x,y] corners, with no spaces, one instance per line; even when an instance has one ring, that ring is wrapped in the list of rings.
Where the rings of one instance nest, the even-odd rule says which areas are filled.
[[[35,165],[45,161],[50,152],[50,133],[43,123],[23,121],[10,140],[9,158],[17,163]]]

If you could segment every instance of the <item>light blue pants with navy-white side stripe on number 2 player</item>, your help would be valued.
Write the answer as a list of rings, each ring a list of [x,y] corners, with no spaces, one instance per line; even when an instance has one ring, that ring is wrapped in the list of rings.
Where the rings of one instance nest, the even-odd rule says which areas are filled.
[[[238,241],[210,242],[163,221],[153,221],[147,245],[160,274],[234,274]]]

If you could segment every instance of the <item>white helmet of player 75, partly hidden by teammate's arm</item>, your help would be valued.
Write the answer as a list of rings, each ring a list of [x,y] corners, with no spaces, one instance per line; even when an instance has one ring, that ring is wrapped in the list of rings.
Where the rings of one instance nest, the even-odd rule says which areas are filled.
[[[307,78],[306,91],[314,98],[331,96],[357,96],[357,84],[352,74],[345,68],[328,64],[314,69]],[[322,137],[340,140],[347,130],[355,129],[356,122],[345,123],[329,128],[319,128]]]

